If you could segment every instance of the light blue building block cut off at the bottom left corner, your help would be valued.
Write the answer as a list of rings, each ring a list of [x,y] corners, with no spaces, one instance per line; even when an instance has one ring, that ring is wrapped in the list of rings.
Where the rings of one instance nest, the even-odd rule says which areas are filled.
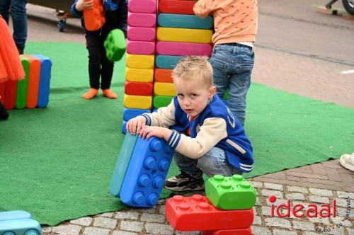
[[[40,224],[32,219],[32,215],[22,210],[0,212],[1,235],[39,235],[42,234]]]

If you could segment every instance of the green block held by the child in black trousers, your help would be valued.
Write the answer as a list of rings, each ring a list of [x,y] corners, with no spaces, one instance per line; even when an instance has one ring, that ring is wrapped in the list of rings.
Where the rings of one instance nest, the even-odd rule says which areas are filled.
[[[125,41],[123,31],[118,28],[111,30],[105,42],[103,42],[103,45],[105,46],[105,52],[110,61],[116,62],[122,59],[127,49],[127,42]]]

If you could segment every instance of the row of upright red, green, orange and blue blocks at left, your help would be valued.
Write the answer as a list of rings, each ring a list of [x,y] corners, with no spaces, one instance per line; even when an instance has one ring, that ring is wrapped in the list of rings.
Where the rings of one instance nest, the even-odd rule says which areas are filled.
[[[25,79],[0,83],[6,109],[45,108],[49,103],[52,62],[43,55],[20,55]]]

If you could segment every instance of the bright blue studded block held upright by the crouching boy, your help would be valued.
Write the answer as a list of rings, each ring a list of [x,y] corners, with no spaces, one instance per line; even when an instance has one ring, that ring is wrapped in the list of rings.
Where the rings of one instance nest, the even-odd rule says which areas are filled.
[[[154,207],[164,187],[173,152],[164,139],[139,137],[120,190],[120,200],[132,207]]]

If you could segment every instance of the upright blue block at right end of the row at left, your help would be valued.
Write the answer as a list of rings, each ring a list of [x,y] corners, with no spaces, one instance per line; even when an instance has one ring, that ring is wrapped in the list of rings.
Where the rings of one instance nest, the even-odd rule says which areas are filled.
[[[40,89],[38,91],[39,108],[47,107],[49,103],[50,78],[52,71],[52,61],[43,55],[32,55],[40,59]]]

